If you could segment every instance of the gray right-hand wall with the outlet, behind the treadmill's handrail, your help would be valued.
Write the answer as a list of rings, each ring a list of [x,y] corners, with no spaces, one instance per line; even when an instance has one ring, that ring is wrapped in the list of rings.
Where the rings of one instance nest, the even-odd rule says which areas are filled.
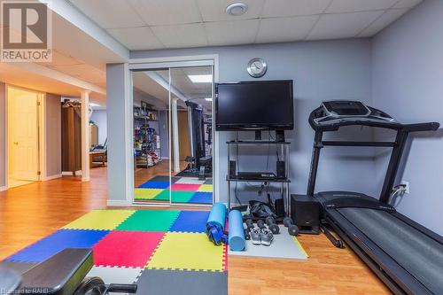
[[[397,120],[443,123],[442,16],[443,1],[426,0],[373,41],[373,103]],[[398,210],[440,235],[442,136],[441,130],[413,136],[398,180],[410,183],[410,194],[400,200]],[[385,166],[382,153],[376,170],[383,171]]]

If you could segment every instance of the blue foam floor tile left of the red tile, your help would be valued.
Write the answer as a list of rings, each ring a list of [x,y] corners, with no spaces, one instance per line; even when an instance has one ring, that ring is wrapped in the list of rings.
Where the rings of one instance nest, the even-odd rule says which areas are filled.
[[[109,232],[109,230],[59,229],[5,261],[42,262],[66,248],[91,248]]]

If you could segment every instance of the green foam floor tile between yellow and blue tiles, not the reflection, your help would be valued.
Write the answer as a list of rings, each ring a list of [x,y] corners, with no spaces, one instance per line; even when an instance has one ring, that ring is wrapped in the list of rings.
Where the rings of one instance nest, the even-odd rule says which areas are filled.
[[[180,211],[138,210],[117,230],[167,231],[171,228]]]

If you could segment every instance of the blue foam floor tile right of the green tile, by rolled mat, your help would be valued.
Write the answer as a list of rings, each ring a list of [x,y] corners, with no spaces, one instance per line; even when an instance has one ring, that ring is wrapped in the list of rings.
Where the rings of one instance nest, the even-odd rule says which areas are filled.
[[[205,232],[209,211],[182,211],[169,231]]]

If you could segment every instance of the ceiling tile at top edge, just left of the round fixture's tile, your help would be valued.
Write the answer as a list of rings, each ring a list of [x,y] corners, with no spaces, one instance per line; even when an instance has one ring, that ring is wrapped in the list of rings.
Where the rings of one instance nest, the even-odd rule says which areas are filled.
[[[178,25],[200,22],[194,0],[128,0],[144,22],[150,26]]]

